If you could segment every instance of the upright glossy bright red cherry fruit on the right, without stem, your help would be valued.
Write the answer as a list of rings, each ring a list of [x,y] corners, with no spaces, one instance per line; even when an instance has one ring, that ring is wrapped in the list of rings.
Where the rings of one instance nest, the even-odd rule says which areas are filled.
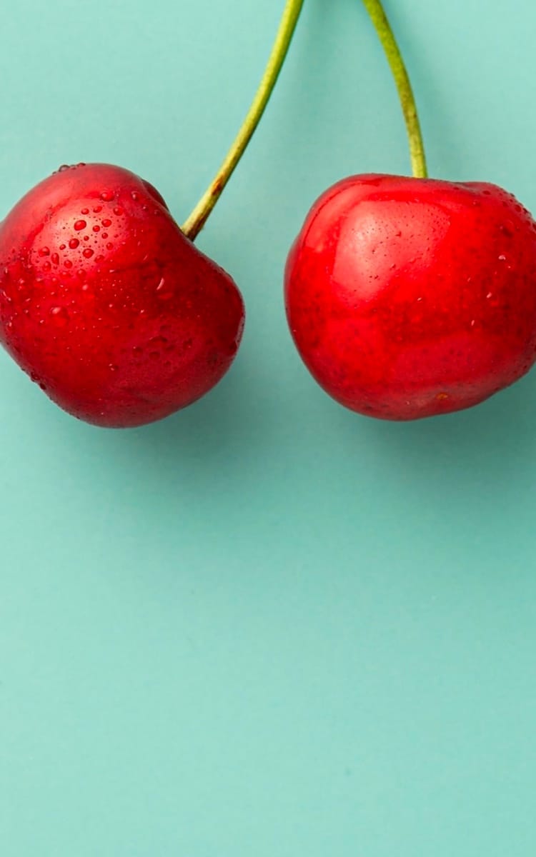
[[[342,405],[458,411],[536,359],[536,225],[493,184],[349,177],[307,215],[285,293],[305,365]]]

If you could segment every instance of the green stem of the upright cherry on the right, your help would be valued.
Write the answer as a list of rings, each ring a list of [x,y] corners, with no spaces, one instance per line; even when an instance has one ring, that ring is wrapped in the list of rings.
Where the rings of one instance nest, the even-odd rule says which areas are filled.
[[[363,3],[382,43],[383,51],[387,57],[393,73],[394,83],[398,90],[400,106],[406,122],[413,176],[415,178],[426,178],[428,172],[426,170],[425,147],[419,125],[417,105],[415,104],[412,85],[400,53],[400,48],[396,44],[394,33],[388,22],[388,17],[385,14],[381,0],[363,0]]]

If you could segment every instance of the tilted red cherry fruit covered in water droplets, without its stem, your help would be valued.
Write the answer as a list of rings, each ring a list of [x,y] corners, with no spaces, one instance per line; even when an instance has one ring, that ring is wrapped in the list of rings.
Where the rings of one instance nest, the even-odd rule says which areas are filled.
[[[232,279],[121,167],[62,167],[0,223],[0,340],[87,423],[190,405],[225,375],[243,327]]]

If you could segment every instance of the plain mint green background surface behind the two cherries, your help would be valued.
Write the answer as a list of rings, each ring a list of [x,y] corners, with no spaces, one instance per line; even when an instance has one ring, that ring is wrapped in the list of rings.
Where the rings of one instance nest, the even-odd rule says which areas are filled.
[[[388,0],[431,172],[536,210],[532,0]],[[256,87],[282,0],[20,0],[0,34],[0,211],[63,162],[178,219]],[[248,320],[165,422],[75,422],[0,356],[0,853],[527,857],[536,849],[536,374],[414,424],[335,405],[281,270],[310,203],[407,171],[357,0],[305,0],[199,246]]]

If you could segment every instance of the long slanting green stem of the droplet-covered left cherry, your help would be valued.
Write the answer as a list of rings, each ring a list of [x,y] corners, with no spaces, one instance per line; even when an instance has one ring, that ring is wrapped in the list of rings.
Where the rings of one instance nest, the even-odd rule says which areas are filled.
[[[214,181],[208,186],[201,200],[197,203],[190,217],[184,222],[182,231],[190,241],[194,241],[202,231],[206,224],[208,215],[212,212],[216,202],[220,199],[220,195],[226,186],[226,183],[232,177],[238,161],[242,158],[245,149],[250,142],[251,137],[261,120],[262,114],[270,95],[272,94],[275,82],[279,77],[281,67],[285,62],[286,52],[292,41],[292,35],[298,23],[299,13],[301,12],[304,0],[286,0],[285,10],[281,17],[280,26],[274,41],[274,47],[268,59],[268,65],[262,75],[262,81],[256,91],[255,98],[251,102],[250,110],[244,119],[242,127],[238,131],[232,147],[226,155],[226,159],[220,166],[220,170],[216,174]]]

